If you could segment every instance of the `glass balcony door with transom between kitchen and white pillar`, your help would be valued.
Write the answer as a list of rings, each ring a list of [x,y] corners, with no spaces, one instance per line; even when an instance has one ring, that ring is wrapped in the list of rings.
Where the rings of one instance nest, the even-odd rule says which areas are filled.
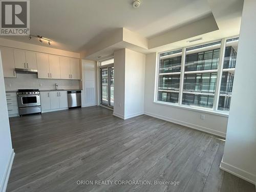
[[[100,63],[100,101],[101,104],[114,106],[114,59],[113,63],[103,65],[106,61]],[[108,60],[111,62],[111,60]]]

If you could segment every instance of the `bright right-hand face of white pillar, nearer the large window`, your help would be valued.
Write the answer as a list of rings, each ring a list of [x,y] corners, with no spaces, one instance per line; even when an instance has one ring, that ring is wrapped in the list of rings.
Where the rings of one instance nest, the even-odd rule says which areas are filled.
[[[125,49],[124,118],[144,114],[145,55]]]

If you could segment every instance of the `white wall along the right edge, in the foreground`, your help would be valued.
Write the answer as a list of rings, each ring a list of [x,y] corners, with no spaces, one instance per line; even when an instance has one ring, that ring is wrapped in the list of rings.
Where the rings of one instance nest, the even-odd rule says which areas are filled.
[[[221,168],[256,183],[256,1],[245,0]]]

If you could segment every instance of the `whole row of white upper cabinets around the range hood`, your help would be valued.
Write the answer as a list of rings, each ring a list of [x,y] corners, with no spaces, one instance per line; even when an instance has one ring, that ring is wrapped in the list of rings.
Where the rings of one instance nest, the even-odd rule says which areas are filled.
[[[34,69],[38,78],[81,79],[80,60],[65,56],[0,47],[4,77],[16,77],[15,68]]]

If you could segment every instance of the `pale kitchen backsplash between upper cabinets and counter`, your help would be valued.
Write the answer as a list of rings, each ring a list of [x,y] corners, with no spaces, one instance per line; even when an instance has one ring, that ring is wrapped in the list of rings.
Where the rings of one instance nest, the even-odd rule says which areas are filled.
[[[69,79],[38,79],[37,74],[17,73],[17,78],[5,77],[6,91],[18,89],[55,89],[54,84],[58,84],[58,89],[79,89],[80,80]]]

